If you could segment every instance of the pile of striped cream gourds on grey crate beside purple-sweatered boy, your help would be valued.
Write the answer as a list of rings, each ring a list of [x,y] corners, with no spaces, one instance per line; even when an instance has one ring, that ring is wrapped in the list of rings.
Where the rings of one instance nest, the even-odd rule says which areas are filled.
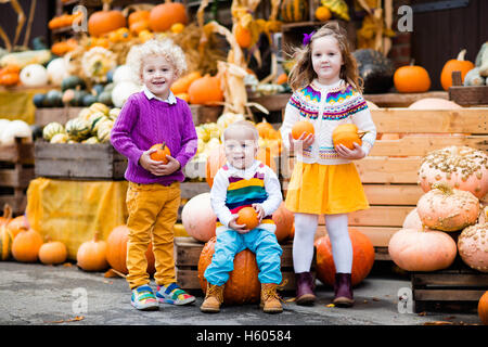
[[[107,143],[119,112],[120,108],[93,103],[66,121],[65,126],[57,121],[47,124],[42,138],[50,143]]]

